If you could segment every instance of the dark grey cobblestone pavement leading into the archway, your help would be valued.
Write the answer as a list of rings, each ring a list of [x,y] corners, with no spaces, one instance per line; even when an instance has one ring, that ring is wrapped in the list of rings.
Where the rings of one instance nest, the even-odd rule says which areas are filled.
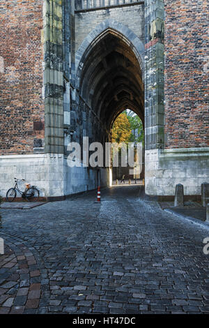
[[[1,209],[0,313],[209,313],[208,228],[140,188]]]

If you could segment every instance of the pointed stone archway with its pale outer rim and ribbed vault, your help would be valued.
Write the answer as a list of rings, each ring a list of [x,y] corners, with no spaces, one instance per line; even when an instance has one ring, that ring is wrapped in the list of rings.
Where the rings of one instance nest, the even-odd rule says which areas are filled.
[[[77,108],[85,117],[77,135],[86,133],[89,143],[104,145],[111,141],[112,123],[127,108],[144,124],[144,45],[130,29],[114,20],[102,22],[79,47],[75,70]]]

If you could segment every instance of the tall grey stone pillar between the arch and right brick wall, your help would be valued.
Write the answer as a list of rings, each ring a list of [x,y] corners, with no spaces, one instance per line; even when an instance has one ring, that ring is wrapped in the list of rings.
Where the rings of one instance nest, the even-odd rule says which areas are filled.
[[[145,144],[164,147],[164,1],[145,0]]]

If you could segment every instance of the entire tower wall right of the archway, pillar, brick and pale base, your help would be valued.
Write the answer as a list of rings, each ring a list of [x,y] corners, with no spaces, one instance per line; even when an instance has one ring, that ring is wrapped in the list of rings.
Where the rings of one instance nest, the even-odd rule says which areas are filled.
[[[148,195],[209,182],[207,20],[208,1],[146,1]]]

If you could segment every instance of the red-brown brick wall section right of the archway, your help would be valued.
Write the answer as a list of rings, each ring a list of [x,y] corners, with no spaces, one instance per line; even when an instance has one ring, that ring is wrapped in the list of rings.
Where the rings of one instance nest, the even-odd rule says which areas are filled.
[[[165,0],[167,148],[209,146],[207,0]]]

